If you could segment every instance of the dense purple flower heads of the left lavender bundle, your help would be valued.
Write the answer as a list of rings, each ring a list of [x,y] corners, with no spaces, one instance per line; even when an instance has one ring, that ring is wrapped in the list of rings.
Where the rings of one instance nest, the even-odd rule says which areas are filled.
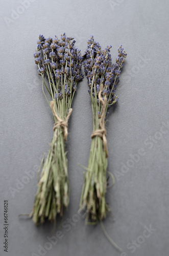
[[[50,94],[53,100],[73,98],[78,81],[83,79],[84,75],[80,73],[83,56],[74,45],[74,38],[66,37],[65,33],[61,35],[61,38],[57,36],[44,38],[43,35],[39,35],[34,53],[35,63],[38,65],[39,75],[43,79],[46,75],[49,79]],[[42,57],[40,57],[40,50],[42,50]],[[63,88],[65,81],[67,82],[66,89]],[[68,107],[70,105],[71,102]]]

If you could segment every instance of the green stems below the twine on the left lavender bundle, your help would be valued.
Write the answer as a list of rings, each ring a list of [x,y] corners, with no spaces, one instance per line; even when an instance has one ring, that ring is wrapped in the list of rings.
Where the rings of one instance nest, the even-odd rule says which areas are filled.
[[[55,202],[55,203],[54,203]],[[62,216],[69,202],[67,158],[63,129],[58,127],[50,144],[50,151],[42,167],[41,179],[33,207],[33,221],[38,225],[45,218],[54,221]]]

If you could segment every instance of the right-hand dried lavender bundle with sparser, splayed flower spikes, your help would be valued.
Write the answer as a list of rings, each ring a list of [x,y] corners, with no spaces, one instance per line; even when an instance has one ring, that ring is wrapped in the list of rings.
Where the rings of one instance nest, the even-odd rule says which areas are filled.
[[[120,45],[116,63],[112,65],[110,48],[111,46],[107,46],[101,50],[99,42],[95,42],[91,36],[85,51],[87,60],[84,61],[84,69],[90,88],[88,92],[91,96],[93,132],[80,208],[86,209],[86,221],[91,217],[92,222],[104,219],[107,211],[110,211],[105,200],[108,157],[105,120],[108,108],[118,100],[115,90],[120,69],[127,57]]]

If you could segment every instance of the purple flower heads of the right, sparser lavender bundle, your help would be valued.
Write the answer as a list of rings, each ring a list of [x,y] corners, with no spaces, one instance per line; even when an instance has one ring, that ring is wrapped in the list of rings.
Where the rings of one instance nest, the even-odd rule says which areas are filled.
[[[84,61],[86,77],[90,91],[92,92],[90,95],[98,98],[101,85],[103,84],[102,97],[107,97],[107,107],[118,100],[118,97],[115,95],[115,90],[119,82],[120,69],[124,67],[125,58],[127,57],[127,53],[122,48],[122,45],[120,45],[116,63],[112,64],[110,54],[111,47],[110,45],[104,50],[101,50],[99,42],[94,41],[93,36],[91,36],[88,40],[88,49],[85,51],[87,60]]]

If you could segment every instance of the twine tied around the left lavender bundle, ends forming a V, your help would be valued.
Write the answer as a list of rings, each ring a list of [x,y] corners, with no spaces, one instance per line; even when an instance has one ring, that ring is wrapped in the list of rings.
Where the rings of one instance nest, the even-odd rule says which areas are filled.
[[[57,122],[55,122],[54,124],[54,131],[56,128],[58,127],[62,127],[63,128],[63,134],[64,134],[64,140],[66,141],[67,140],[67,135],[68,135],[68,132],[67,132],[67,127],[68,127],[68,119],[71,115],[71,112],[72,112],[72,109],[69,109],[69,112],[68,112],[68,115],[66,117],[66,120],[62,120],[57,114],[56,114],[56,111],[55,111],[55,102],[54,101],[51,101],[51,109],[55,115],[55,117],[57,118]]]

